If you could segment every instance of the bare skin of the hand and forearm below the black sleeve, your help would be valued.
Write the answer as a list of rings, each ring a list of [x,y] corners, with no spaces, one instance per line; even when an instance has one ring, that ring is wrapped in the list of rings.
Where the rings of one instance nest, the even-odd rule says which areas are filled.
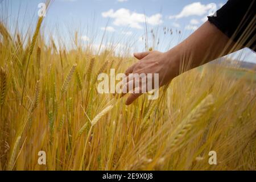
[[[188,71],[241,48],[243,47],[234,43],[207,21],[187,39],[167,52],[134,53],[134,57],[139,61],[128,68],[125,73],[127,76],[129,73],[159,73],[159,87],[161,87],[180,75],[181,61],[189,63],[190,66],[185,70]],[[185,57],[189,59],[184,59]],[[127,82],[124,84],[128,87]],[[142,93],[130,93],[126,105],[130,105],[141,95]]]

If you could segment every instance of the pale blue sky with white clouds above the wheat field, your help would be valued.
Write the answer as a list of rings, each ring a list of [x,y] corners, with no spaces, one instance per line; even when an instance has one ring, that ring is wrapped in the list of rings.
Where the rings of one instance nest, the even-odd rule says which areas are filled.
[[[36,22],[42,2],[0,0],[0,7],[8,10],[2,13],[5,15],[0,11],[0,17],[7,14],[13,23],[19,17],[19,30],[26,32],[28,27],[35,27],[31,22]],[[71,35],[78,31],[82,44],[93,44],[96,49],[100,44],[102,48],[117,45],[117,52],[127,48],[131,52],[144,51],[147,39],[148,47],[167,51],[225,3],[225,0],[55,0],[46,13],[43,33],[51,34],[56,42],[61,37],[63,42],[71,43]],[[255,53],[250,49],[229,56],[256,63]]]

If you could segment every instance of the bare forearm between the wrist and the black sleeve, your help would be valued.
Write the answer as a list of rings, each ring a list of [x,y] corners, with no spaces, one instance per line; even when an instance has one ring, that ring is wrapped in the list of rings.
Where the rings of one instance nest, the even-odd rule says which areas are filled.
[[[234,43],[207,21],[167,54],[175,55],[176,58],[172,60],[175,60],[176,64],[180,64],[180,61],[191,61],[189,69],[192,69],[241,48],[242,46]]]

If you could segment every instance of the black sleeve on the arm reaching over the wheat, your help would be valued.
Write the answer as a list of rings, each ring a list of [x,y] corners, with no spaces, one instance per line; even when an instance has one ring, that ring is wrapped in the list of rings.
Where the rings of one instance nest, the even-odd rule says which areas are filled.
[[[256,0],[229,0],[208,20],[234,42],[256,51],[255,13]]]

